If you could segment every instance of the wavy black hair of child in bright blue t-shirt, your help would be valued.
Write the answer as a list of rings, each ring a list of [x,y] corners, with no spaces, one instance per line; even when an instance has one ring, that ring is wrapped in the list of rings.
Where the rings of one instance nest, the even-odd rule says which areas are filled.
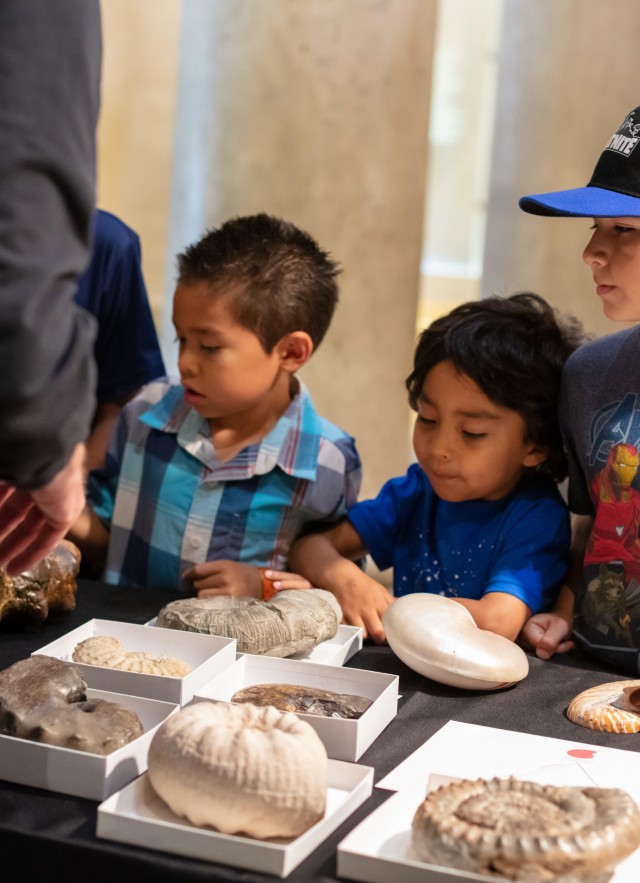
[[[531,292],[462,304],[420,335],[406,381],[409,402],[417,410],[429,371],[451,361],[487,398],[520,414],[526,440],[547,451],[539,471],[562,481],[567,460],[557,415],[560,373],[585,340],[577,319],[559,317]]]

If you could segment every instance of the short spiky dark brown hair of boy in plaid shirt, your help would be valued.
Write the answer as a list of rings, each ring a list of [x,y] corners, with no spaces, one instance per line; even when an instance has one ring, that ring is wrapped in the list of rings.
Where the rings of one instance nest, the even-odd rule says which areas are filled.
[[[320,345],[338,302],[340,269],[303,230],[267,214],[232,218],[178,255],[178,283],[208,282],[266,352],[306,331]]]

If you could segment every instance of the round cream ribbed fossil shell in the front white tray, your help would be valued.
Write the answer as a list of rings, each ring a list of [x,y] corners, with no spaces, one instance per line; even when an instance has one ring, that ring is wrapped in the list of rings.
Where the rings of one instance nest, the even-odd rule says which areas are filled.
[[[327,753],[294,714],[197,702],[149,748],[149,780],[179,816],[225,834],[297,837],[324,815]]]

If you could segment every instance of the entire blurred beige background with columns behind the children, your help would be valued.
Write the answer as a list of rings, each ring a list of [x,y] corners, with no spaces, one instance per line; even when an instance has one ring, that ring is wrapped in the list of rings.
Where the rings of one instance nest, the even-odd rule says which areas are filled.
[[[175,254],[255,211],[343,267],[304,371],[357,439],[363,494],[411,460],[417,330],[531,289],[612,330],[581,262],[588,220],[525,193],[585,184],[640,105],[637,0],[103,0],[98,203],[142,240],[173,370]]]

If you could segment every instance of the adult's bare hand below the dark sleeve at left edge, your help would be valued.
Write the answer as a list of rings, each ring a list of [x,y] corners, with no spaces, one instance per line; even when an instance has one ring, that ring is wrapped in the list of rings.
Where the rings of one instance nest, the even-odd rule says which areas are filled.
[[[85,504],[85,446],[44,487],[0,484],[0,566],[9,576],[29,570],[64,537]]]

